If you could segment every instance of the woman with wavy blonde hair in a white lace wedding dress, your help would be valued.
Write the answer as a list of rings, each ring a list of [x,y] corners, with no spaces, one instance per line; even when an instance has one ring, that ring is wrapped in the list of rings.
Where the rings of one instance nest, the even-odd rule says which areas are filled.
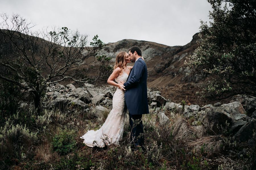
[[[142,58],[143,59],[143,58]],[[144,60],[144,59],[143,59]],[[81,139],[89,147],[98,146],[103,148],[105,145],[119,145],[123,136],[123,126],[127,113],[124,98],[124,86],[118,84],[120,81],[126,82],[132,66],[126,66],[131,63],[130,56],[127,52],[120,52],[115,59],[113,73],[108,78],[108,84],[118,87],[113,95],[113,109],[110,111],[102,127],[96,131],[89,130]],[[115,80],[116,82],[114,82]]]

